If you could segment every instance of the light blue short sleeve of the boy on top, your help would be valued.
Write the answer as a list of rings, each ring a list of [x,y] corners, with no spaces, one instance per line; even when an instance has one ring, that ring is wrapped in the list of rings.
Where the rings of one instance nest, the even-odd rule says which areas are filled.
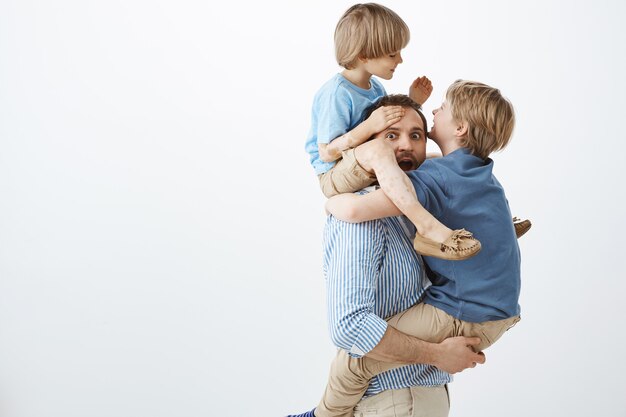
[[[317,143],[330,143],[350,130],[352,100],[340,87],[320,97],[317,118]]]

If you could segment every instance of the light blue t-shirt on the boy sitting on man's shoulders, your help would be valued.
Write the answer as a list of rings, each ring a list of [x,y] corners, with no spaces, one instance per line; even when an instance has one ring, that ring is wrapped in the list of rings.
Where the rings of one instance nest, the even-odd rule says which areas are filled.
[[[357,87],[341,74],[320,88],[313,99],[311,130],[305,144],[317,175],[330,170],[336,163],[320,159],[318,144],[330,143],[354,129],[363,119],[363,112],[386,94],[383,85],[374,77],[370,78],[369,90]]]

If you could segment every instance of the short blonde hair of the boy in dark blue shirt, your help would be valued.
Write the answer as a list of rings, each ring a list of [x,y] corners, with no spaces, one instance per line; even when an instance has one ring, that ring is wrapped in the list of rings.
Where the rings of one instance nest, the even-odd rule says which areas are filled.
[[[509,144],[515,112],[500,90],[475,81],[456,80],[448,88],[446,100],[452,117],[467,123],[467,135],[461,145],[472,154],[487,159]]]

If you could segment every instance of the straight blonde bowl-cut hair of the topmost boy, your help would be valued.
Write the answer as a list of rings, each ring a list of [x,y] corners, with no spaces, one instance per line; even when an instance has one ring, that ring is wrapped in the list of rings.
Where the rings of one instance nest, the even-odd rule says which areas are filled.
[[[359,57],[398,52],[409,39],[409,27],[393,10],[376,3],[355,4],[335,28],[335,57],[339,65],[353,69]]]

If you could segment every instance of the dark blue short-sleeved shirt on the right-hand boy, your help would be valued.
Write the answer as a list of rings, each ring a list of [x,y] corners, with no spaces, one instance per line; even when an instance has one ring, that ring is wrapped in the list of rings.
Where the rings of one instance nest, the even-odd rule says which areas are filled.
[[[461,148],[408,173],[426,210],[480,240],[481,251],[464,261],[424,257],[433,283],[424,302],[474,323],[520,313],[520,251],[509,203],[492,171],[493,160]]]

